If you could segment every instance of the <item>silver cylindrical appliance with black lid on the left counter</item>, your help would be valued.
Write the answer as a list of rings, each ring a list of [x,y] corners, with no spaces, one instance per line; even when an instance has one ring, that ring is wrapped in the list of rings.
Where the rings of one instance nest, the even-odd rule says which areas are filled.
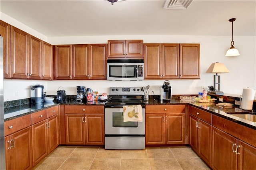
[[[31,103],[44,103],[44,86],[33,85],[30,87]]]

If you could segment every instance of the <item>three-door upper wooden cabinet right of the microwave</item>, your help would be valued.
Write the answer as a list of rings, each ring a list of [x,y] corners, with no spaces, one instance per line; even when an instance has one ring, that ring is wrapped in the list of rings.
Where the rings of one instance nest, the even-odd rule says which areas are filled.
[[[145,79],[200,78],[199,44],[145,43]]]

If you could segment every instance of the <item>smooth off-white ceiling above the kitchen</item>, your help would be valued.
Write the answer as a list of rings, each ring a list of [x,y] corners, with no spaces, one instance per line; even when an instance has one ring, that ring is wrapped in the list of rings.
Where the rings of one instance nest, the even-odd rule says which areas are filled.
[[[182,0],[180,0],[182,1]],[[0,0],[0,11],[46,37],[111,35],[256,36],[256,0]]]

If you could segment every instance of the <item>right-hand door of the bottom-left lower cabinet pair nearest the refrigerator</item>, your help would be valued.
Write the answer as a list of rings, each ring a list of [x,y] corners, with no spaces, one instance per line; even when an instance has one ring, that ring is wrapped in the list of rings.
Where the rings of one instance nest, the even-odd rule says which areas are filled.
[[[31,127],[25,128],[11,135],[13,139],[11,149],[11,169],[32,169],[32,132]]]

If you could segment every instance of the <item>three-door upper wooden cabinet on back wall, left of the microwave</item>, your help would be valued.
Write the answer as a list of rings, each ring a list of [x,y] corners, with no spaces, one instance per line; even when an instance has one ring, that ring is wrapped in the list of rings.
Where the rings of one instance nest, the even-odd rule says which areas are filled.
[[[106,79],[107,44],[55,45],[55,79]]]

